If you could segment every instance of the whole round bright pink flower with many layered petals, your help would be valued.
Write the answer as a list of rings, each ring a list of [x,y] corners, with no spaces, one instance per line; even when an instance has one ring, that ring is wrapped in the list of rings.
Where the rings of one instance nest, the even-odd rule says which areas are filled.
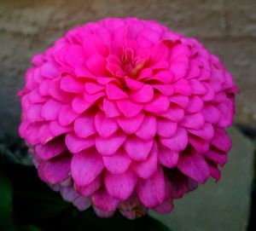
[[[106,19],[35,55],[20,136],[38,175],[79,210],[141,217],[220,177],[238,91],[193,38],[153,20]]]

